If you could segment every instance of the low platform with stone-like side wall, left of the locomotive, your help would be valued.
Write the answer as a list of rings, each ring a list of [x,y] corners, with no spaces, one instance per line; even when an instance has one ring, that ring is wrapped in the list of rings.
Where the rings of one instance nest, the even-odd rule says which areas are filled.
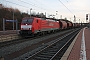
[[[7,31],[0,31],[0,43],[1,42],[6,42],[6,41],[11,41],[15,39],[21,38],[19,36],[19,30],[7,30]]]

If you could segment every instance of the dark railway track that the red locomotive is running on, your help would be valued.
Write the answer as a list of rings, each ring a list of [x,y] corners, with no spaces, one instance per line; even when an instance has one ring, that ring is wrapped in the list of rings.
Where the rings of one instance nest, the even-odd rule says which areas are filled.
[[[65,33],[67,33],[67,32],[65,32]],[[47,34],[47,36],[48,35],[50,35],[50,34]],[[5,46],[10,46],[10,45],[18,44],[18,43],[22,43],[22,42],[33,40],[33,39],[37,39],[37,38],[44,37],[44,36],[45,35],[35,36],[35,37],[22,37],[20,39],[15,39],[15,40],[6,41],[6,42],[0,42],[0,48],[5,47]]]

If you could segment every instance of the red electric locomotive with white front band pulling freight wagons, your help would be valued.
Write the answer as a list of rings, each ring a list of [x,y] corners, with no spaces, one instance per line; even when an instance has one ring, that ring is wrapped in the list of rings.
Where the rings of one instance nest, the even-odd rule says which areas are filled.
[[[59,28],[59,21],[36,17],[26,17],[22,19],[20,34],[33,35],[42,32],[55,31]]]

